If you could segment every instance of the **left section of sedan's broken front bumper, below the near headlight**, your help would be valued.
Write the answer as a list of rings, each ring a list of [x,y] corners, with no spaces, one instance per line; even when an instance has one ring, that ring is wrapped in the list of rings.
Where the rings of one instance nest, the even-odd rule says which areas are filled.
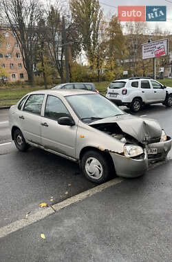
[[[140,177],[148,168],[147,152],[144,150],[142,159],[131,159],[120,154],[110,153],[114,161],[116,174],[119,177]]]

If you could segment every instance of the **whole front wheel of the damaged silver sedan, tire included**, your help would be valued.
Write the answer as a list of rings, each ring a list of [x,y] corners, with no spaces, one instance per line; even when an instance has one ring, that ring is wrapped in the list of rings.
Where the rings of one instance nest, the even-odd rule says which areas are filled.
[[[87,179],[94,183],[103,183],[109,177],[111,161],[105,154],[90,150],[83,155],[81,168]]]

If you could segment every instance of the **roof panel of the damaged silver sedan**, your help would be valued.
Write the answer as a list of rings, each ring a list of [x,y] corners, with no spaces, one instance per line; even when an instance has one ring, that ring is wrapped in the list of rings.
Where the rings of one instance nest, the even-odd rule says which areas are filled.
[[[97,94],[96,92],[89,90],[78,90],[78,89],[48,89],[48,90],[37,90],[30,92],[29,94],[58,94],[61,97],[76,95],[76,94]]]

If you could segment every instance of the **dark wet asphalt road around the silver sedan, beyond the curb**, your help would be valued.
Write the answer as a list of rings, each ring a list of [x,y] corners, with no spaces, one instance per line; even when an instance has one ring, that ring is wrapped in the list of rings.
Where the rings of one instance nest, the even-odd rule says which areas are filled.
[[[171,112],[172,108],[151,105],[137,115],[157,119],[172,137]],[[39,203],[58,203],[95,186],[75,163],[36,148],[21,153],[9,141],[8,110],[0,110],[0,227],[36,212]]]

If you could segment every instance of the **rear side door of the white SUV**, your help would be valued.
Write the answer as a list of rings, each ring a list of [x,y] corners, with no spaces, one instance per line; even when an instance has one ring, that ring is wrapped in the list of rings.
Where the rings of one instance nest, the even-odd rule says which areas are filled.
[[[142,92],[143,101],[145,103],[151,103],[154,101],[154,92],[153,88],[151,87],[149,80],[141,80],[140,81],[140,88]]]

